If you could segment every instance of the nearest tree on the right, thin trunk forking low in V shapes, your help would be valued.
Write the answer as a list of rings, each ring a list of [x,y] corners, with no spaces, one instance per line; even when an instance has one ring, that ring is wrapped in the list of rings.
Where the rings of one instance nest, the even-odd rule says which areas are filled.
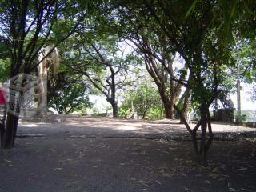
[[[218,42],[220,38],[216,35],[222,22],[222,16],[215,18],[218,4],[210,1],[194,1],[192,5],[186,1],[143,2],[162,32],[166,34],[169,45],[182,55],[188,66],[190,81],[186,86],[190,87],[192,102],[197,104],[200,111],[200,120],[194,129],[187,124],[178,106],[174,105],[174,108],[184,119],[191,134],[198,160],[206,165],[207,152],[214,138],[209,107],[220,93],[220,88],[225,86],[219,76],[222,74],[222,66],[230,66],[231,43],[227,42],[226,46],[223,46]],[[199,127],[200,146],[197,138]]]

